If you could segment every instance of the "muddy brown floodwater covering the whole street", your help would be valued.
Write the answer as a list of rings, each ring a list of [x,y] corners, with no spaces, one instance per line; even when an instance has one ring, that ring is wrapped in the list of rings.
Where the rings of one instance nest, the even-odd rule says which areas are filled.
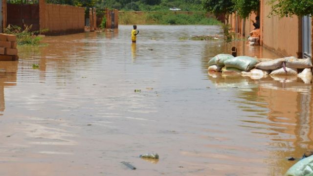
[[[0,63],[1,176],[281,176],[313,149],[310,81],[207,73],[234,45],[278,56],[179,40],[217,26],[138,29],[136,44],[130,25],[45,37]]]

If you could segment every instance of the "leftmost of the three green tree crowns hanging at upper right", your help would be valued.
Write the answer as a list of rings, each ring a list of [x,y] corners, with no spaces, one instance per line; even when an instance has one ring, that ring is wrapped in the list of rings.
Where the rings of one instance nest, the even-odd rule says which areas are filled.
[[[235,12],[235,4],[232,0],[202,0],[202,7],[216,16],[224,15],[226,24],[228,24],[229,15]]]

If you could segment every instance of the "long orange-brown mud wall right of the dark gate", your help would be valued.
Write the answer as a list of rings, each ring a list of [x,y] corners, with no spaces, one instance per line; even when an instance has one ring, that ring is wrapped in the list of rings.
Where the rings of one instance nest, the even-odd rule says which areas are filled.
[[[70,5],[46,4],[45,0],[39,1],[40,29],[48,35],[70,34],[84,32],[85,8]]]

